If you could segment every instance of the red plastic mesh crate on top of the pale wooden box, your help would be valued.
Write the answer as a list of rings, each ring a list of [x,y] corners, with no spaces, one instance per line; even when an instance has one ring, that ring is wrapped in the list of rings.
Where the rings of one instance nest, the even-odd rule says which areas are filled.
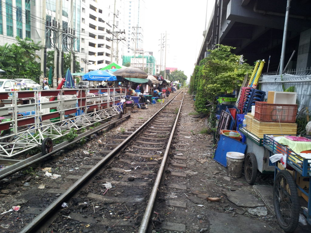
[[[297,104],[255,102],[255,119],[265,122],[295,123]]]

